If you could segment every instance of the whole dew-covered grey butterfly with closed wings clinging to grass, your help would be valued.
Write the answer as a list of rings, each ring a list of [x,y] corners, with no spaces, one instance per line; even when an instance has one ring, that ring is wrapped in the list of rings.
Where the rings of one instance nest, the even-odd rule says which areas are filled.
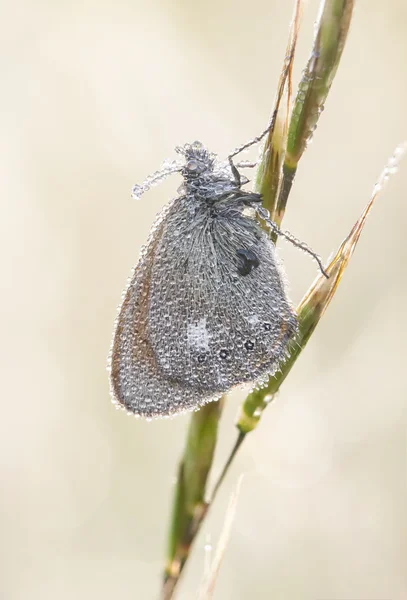
[[[133,188],[138,198],[173,172],[183,177],[129,279],[109,361],[113,402],[146,418],[266,381],[287,356],[297,318],[262,222],[319,261],[270,220],[260,194],[243,189],[233,155],[222,163],[200,142],[176,150],[181,162]]]

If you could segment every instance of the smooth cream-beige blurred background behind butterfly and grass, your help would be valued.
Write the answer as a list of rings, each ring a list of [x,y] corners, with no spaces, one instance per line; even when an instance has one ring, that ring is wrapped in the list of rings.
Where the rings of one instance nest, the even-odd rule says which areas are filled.
[[[295,77],[311,46],[303,19]],[[292,2],[8,3],[0,96],[1,600],[150,600],[188,416],[110,404],[121,290],[173,177],[133,183],[199,139],[225,156],[268,121]],[[359,0],[284,226],[328,257],[407,135],[407,5]],[[242,447],[178,598],[196,597],[245,477],[217,600],[407,597],[407,163],[279,398]],[[298,302],[316,275],[280,244]],[[243,392],[223,415],[214,474]]]

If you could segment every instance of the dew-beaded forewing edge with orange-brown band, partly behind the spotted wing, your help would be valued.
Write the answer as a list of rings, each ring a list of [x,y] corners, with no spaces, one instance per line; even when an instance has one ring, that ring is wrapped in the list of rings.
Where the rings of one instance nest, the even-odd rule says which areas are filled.
[[[219,397],[199,387],[191,388],[187,381],[171,381],[157,363],[150,343],[149,304],[154,259],[168,219],[177,213],[178,202],[176,199],[159,215],[141,252],[124,292],[110,355],[113,401],[145,417],[190,410]]]

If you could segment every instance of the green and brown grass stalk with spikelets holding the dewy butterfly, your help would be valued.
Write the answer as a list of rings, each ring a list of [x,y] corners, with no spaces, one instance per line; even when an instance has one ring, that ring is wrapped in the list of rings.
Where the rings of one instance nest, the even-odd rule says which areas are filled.
[[[287,55],[280,76],[271,124],[267,132],[256,180],[256,188],[263,195],[264,206],[271,212],[273,220],[278,225],[281,224],[284,216],[298,162],[312,131],[315,129],[336,73],[349,29],[353,0],[325,0],[321,2],[320,17],[311,57],[299,85],[291,119],[289,120],[292,87],[291,72],[298,37],[301,5],[301,0],[296,0]],[[286,96],[286,102],[282,102],[284,95]],[[328,272],[332,265],[333,263],[328,267]],[[342,270],[340,270],[339,278]],[[319,283],[314,284],[314,287],[317,286],[315,290],[326,291],[329,288],[329,282],[333,284],[336,281],[334,279],[336,275],[333,271],[330,275],[333,279],[330,278],[328,282],[324,277],[322,277],[323,282],[317,279]],[[335,289],[338,282],[339,279],[335,283]],[[247,434],[257,426],[264,409],[287,377],[322,315],[321,303],[312,307],[312,302],[316,297],[311,294],[313,289],[311,288],[298,307],[299,337],[296,343],[291,344],[290,357],[281,366],[281,370],[276,376],[270,378],[268,386],[253,390],[241,407],[236,424],[238,436],[214,486],[210,501],[205,501],[205,491],[216,446],[222,403],[209,403],[191,417],[187,443],[178,469],[162,600],[170,600],[173,597],[181,572],[189,557],[191,544],[229,471],[230,465]],[[329,296],[329,300],[332,295],[333,292]],[[321,302],[323,303],[323,299],[321,299]]]

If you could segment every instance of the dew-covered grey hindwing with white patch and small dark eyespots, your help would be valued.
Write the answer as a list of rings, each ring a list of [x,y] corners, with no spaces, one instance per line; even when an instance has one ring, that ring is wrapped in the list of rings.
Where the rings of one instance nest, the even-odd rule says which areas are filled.
[[[255,266],[242,269],[242,255]],[[273,374],[296,332],[274,245],[241,209],[211,214],[180,199],[157,244],[149,294],[157,364],[188,389],[222,393]]]

